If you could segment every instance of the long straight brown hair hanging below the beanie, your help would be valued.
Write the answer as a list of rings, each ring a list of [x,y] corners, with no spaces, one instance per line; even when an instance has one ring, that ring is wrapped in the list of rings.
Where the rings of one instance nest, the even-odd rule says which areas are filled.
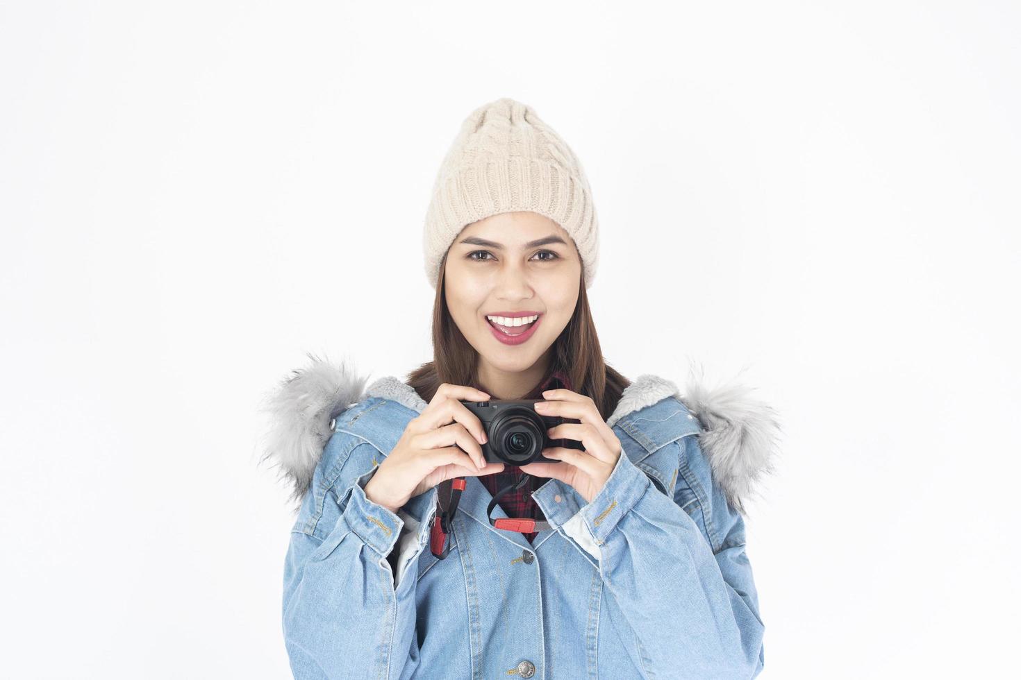
[[[433,361],[408,373],[406,380],[426,402],[432,401],[436,390],[444,382],[473,385],[478,380],[476,369],[479,353],[461,334],[447,309],[444,295],[446,258],[444,255],[440,262],[436,300],[433,303]],[[602,359],[599,337],[595,332],[585,293],[584,275],[582,269],[578,281],[578,304],[568,325],[553,342],[552,359],[546,375],[537,384],[542,384],[552,373],[560,371],[574,385],[573,391],[585,395],[595,402],[599,414],[605,420],[617,408],[624,388],[631,381]]]

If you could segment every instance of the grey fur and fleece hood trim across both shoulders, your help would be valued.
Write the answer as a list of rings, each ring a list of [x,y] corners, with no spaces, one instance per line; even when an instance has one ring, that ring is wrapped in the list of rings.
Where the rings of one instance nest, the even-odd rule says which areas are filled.
[[[309,365],[293,370],[262,405],[270,423],[260,460],[273,463],[297,500],[307,490],[333,434],[334,419],[343,411],[370,397],[389,399],[419,413],[427,406],[399,378],[387,375],[367,387],[368,377],[353,367],[308,357]],[[675,383],[645,373],[625,387],[606,424],[613,427],[630,413],[677,398],[701,425],[699,444],[713,477],[730,504],[743,513],[757,483],[773,471],[781,431],[775,411],[753,398],[751,389],[739,384],[711,388],[692,372],[687,393],[681,396]]]

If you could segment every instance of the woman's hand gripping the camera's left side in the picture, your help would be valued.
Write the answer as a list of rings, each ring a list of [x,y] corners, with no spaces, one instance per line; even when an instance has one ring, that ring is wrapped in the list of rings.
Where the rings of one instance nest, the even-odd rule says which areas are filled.
[[[396,513],[409,499],[442,481],[503,470],[503,463],[486,463],[482,421],[458,400],[484,402],[489,395],[465,385],[441,384],[366,483],[367,499]]]

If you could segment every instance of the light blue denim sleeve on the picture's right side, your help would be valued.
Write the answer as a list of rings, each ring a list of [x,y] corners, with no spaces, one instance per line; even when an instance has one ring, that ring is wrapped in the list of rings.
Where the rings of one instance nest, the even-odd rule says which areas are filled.
[[[667,447],[658,455],[677,456],[669,493],[622,453],[566,528],[595,559],[646,677],[753,678],[764,626],[744,520],[713,481],[697,437]]]

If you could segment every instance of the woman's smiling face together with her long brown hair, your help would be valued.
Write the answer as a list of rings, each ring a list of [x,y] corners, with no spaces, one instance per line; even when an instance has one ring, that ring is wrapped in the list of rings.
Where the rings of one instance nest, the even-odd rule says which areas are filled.
[[[629,381],[602,357],[585,278],[594,266],[572,234],[546,214],[513,210],[451,241],[437,262],[433,361],[407,383],[425,400],[444,382],[522,399],[558,372],[609,417]]]

